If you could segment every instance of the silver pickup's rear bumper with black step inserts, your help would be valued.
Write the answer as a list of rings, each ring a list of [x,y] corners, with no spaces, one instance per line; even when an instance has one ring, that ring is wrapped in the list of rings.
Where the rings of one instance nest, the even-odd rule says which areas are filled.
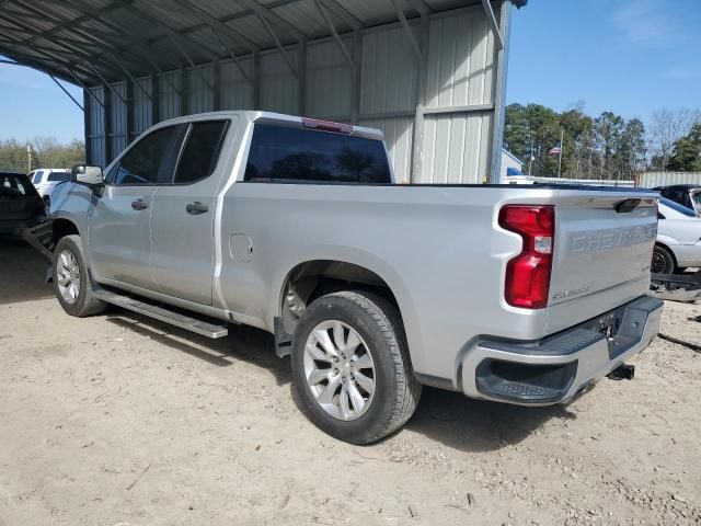
[[[565,402],[650,345],[663,305],[643,296],[536,342],[481,340],[462,361],[462,391],[520,405]]]

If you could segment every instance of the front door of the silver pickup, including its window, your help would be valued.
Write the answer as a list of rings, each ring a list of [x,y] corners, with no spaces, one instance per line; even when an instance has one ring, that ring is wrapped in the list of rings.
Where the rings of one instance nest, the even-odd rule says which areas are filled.
[[[157,184],[168,178],[175,126],[157,129],[119,158],[104,193],[89,209],[89,245],[95,277],[153,289],[149,271],[150,218]]]

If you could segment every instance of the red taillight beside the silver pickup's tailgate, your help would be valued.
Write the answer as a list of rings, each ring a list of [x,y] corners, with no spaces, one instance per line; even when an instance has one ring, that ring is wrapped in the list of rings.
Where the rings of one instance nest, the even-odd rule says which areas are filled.
[[[545,308],[555,235],[554,207],[506,205],[499,211],[499,226],[524,240],[521,253],[506,265],[506,302],[524,309]]]

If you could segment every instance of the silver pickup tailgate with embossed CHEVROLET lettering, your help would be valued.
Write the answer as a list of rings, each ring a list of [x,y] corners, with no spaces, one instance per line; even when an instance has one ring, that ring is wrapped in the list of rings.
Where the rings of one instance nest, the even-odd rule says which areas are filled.
[[[657,195],[561,191],[547,332],[587,320],[650,288]]]

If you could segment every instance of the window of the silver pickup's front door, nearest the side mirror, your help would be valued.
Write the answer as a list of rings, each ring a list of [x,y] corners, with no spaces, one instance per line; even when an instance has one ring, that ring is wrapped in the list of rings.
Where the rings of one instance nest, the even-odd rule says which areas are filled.
[[[119,160],[112,184],[157,184],[159,172],[170,155],[175,127],[157,129],[147,135]]]

